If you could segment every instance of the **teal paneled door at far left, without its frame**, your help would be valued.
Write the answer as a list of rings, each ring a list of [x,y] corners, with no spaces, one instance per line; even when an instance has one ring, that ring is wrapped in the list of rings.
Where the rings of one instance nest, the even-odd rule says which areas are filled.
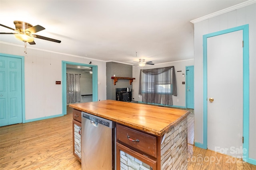
[[[21,59],[0,56],[0,126],[22,123]]]

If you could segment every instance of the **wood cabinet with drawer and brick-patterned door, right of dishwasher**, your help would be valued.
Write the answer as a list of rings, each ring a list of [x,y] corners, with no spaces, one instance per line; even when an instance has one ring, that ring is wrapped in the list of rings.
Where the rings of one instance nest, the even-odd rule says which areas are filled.
[[[116,125],[116,170],[157,169],[157,137]]]

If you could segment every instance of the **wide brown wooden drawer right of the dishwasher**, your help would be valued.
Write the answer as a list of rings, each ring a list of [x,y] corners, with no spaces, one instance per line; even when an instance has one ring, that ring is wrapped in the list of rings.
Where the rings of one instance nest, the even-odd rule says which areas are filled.
[[[116,140],[156,158],[156,137],[129,127],[116,125]],[[132,141],[134,140],[134,141]]]

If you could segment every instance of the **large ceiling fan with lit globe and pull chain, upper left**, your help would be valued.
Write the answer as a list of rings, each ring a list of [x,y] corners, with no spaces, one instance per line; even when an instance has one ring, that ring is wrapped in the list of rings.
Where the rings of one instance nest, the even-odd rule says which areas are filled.
[[[52,39],[52,38],[44,37],[41,35],[35,35],[34,33],[45,29],[41,25],[33,26],[30,23],[26,23],[23,21],[14,21],[13,23],[14,23],[16,29],[8,27],[6,25],[2,25],[2,24],[0,24],[0,26],[6,27],[8,29],[12,29],[13,31],[16,31],[16,33],[0,33],[0,34],[14,34],[16,39],[18,39],[20,41],[24,41],[24,43],[25,43],[25,51],[24,52],[26,52],[26,42],[28,42],[30,45],[36,44],[34,41],[34,38],[44,39],[44,40],[52,41],[52,42],[56,42],[56,43],[61,42],[60,40],[57,40],[57,39]]]

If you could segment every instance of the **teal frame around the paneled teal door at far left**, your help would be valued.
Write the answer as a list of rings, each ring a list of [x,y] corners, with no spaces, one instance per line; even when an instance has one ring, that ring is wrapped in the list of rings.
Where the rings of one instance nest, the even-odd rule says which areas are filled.
[[[25,117],[25,64],[24,64],[24,56],[20,55],[11,55],[11,54],[4,54],[0,53],[1,57],[8,57],[8,58],[18,58],[21,59],[21,98],[22,98],[22,123],[26,123],[26,117]]]

